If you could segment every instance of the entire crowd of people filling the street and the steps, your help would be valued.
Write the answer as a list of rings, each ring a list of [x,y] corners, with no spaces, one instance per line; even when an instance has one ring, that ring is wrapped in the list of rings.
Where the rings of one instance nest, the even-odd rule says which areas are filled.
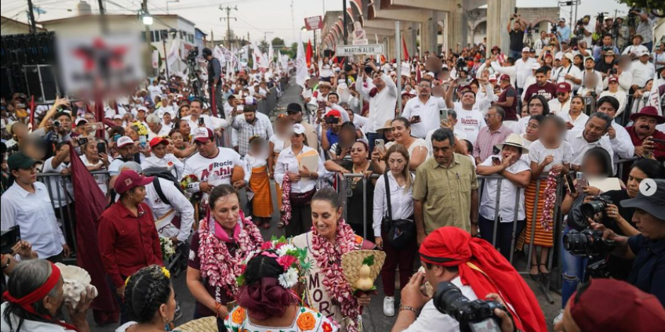
[[[77,245],[85,237],[106,279],[96,287],[117,309],[95,319],[120,332],[175,326],[163,267],[173,252],[192,318],[214,317],[219,331],[362,331],[374,296],[354,292],[341,264],[357,250],[386,253],[379,297],[393,332],[463,328],[424,283],[501,303],[501,331],[548,331],[519,258],[544,285],[562,261],[556,331],[655,331],[665,324],[665,41],[650,44],[652,18],[637,16],[632,45],[605,33],[612,22],[594,32],[585,18],[579,33],[560,20],[532,49],[515,15],[507,54],[424,52],[402,64],[399,85],[395,61],[320,57],[301,102],[274,114],[259,101],[282,95],[292,68],[224,73],[210,49],[209,98],[172,76],[103,107],[3,100],[1,228],[21,241],[0,263],[0,331],[93,330],[89,290],[67,307],[72,325],[62,321],[53,264],[91,255]],[[94,229],[79,181],[105,198]],[[602,208],[589,215],[593,202]],[[264,238],[270,229],[284,237]],[[607,247],[579,254],[566,241],[581,234]]]

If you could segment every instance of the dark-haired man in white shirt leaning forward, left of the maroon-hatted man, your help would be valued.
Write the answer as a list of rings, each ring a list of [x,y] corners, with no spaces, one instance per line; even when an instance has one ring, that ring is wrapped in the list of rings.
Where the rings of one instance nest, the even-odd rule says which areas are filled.
[[[570,163],[572,170],[579,171],[582,169],[582,160],[586,151],[591,148],[601,147],[605,149],[610,155],[614,170],[614,150],[610,139],[605,135],[612,126],[612,119],[604,113],[591,114],[586,125],[581,129],[573,129],[568,131],[566,141],[570,143],[573,150],[573,158]]]

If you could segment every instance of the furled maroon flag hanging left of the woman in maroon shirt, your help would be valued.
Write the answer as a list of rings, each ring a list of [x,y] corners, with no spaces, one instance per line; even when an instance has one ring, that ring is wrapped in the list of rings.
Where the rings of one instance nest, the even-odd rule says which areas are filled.
[[[106,208],[106,196],[99,189],[92,174],[83,165],[74,147],[69,145],[71,155],[71,181],[76,197],[76,263],[90,273],[92,284],[97,287],[98,297],[91,304],[95,321],[109,324],[118,321],[120,310],[106,279],[97,240],[97,221]]]

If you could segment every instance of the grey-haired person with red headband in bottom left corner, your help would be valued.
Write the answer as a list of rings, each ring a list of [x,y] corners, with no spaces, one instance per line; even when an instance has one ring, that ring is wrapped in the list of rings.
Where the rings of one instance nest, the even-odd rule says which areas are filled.
[[[4,276],[2,276],[4,278]],[[22,261],[11,272],[0,307],[0,331],[90,332],[87,311],[93,290],[81,292],[76,307],[64,304],[63,280],[57,266],[43,259]],[[71,324],[59,321],[67,307]]]

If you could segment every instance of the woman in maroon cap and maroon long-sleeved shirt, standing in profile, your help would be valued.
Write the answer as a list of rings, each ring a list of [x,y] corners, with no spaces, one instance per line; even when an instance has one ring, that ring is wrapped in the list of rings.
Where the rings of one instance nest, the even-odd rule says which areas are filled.
[[[163,265],[159,235],[150,207],[144,203],[146,186],[153,177],[122,171],[115,182],[120,200],[99,218],[97,236],[106,274],[116,288],[120,303],[120,325],[127,323],[125,280],[141,268]]]

